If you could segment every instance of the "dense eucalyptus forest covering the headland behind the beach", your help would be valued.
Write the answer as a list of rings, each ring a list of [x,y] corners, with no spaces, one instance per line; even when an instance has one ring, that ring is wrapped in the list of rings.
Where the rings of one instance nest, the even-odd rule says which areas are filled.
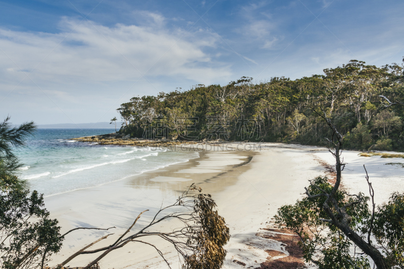
[[[330,129],[315,113],[325,107],[345,136],[345,148],[403,150],[403,65],[382,67],[352,60],[323,75],[254,83],[196,85],[157,96],[133,97],[118,109],[120,132],[132,137],[230,139],[322,144]],[[384,97],[381,97],[384,96]]]

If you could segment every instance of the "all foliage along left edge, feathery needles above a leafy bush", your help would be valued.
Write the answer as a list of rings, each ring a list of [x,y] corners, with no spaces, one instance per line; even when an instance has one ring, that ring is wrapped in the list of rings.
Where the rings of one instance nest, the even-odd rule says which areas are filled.
[[[35,125],[11,127],[0,123],[0,265],[2,268],[41,268],[62,246],[57,220],[49,219],[43,197],[18,179],[22,166],[13,148],[23,146]]]

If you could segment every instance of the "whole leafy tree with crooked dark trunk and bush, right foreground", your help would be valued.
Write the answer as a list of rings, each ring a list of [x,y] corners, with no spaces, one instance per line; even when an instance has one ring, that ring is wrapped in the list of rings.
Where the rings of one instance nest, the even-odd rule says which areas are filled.
[[[389,101],[383,109],[396,104],[401,103]],[[322,113],[317,115],[332,131],[325,141],[335,158],[335,183],[326,177],[311,180],[305,188],[307,197],[279,208],[276,223],[299,236],[305,260],[320,269],[370,269],[370,260],[378,269],[404,268],[404,194],[394,192],[387,203],[376,207],[375,190],[365,166],[369,196],[343,190],[342,171],[347,164],[341,153],[346,137],[328,111],[323,107],[319,111]],[[397,155],[402,156],[394,157]]]

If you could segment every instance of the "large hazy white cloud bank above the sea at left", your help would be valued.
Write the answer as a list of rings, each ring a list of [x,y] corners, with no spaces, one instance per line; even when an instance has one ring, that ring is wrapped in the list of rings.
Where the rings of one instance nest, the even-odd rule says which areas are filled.
[[[139,25],[63,18],[60,33],[0,28],[0,114],[14,123],[108,121],[135,95],[232,78],[218,60],[217,34],[170,28],[156,13],[136,16]]]

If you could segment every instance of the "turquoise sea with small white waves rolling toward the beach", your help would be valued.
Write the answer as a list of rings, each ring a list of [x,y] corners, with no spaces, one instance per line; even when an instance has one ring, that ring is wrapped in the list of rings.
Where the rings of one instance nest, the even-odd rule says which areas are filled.
[[[167,148],[99,145],[69,138],[108,134],[113,129],[38,129],[17,149],[20,177],[44,196],[91,188],[145,171],[187,162],[195,152]]]

